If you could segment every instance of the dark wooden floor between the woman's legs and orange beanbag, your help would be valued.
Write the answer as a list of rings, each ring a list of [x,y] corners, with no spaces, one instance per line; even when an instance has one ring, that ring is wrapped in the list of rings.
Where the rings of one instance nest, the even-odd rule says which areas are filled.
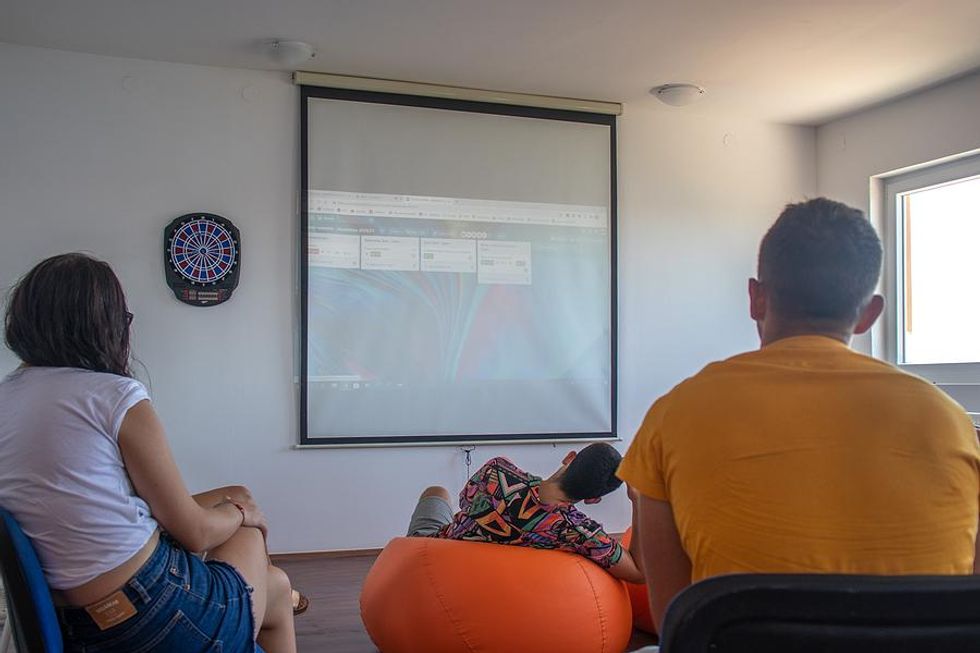
[[[350,558],[277,560],[296,589],[310,597],[310,609],[296,617],[300,653],[377,653],[361,625],[358,597],[374,555]],[[639,631],[627,650],[656,641]]]

